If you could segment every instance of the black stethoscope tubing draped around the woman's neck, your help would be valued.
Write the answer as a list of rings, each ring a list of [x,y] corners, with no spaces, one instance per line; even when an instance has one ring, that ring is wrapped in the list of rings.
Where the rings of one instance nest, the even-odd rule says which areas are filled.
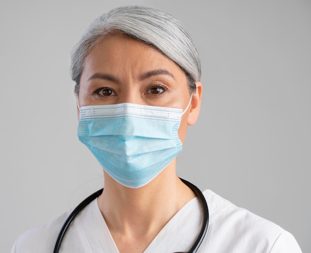
[[[199,198],[199,201],[201,203],[202,206],[202,211],[203,211],[203,225],[202,225],[202,229],[200,231],[200,234],[197,238],[197,240],[195,241],[194,245],[191,247],[190,251],[188,253],[195,253],[197,252],[198,248],[200,247],[206,232],[207,232],[207,228],[208,228],[208,223],[209,223],[209,210],[208,210],[208,206],[205,200],[205,197],[203,196],[202,191],[195,186],[194,184],[180,178]],[[59,235],[57,238],[57,241],[55,243],[55,247],[54,247],[54,251],[53,253],[58,253],[60,248],[61,248],[61,243],[63,241],[63,238],[65,236],[65,233],[68,230],[69,225],[73,222],[73,220],[76,218],[76,216],[78,215],[78,213],[85,207],[87,206],[90,202],[92,202],[95,198],[97,198],[101,193],[102,193],[103,189],[100,189],[96,192],[94,192],[92,195],[88,196],[86,199],[84,199],[75,209],[74,211],[68,216],[67,220],[65,221]],[[176,253],[181,253],[181,252],[176,252]]]

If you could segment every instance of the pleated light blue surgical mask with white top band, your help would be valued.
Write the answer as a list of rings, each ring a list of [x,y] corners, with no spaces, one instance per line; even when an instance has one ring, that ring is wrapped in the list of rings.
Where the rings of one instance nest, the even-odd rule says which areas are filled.
[[[184,111],[132,103],[83,106],[78,138],[112,178],[139,188],[181,151],[178,129],[190,102]]]

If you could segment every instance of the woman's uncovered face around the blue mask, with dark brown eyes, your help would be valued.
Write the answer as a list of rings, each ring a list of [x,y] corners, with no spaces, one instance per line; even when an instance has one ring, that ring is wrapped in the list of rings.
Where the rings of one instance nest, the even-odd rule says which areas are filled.
[[[154,47],[115,34],[84,59],[78,101],[79,106],[135,103],[184,110],[190,93],[185,74],[174,62]],[[182,142],[190,109],[178,132]]]

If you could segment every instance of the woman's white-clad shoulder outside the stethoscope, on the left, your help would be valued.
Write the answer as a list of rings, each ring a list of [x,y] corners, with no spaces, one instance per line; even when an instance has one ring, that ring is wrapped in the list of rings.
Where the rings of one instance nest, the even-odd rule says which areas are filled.
[[[21,234],[15,241],[11,253],[50,253],[71,210],[46,224],[32,228]]]

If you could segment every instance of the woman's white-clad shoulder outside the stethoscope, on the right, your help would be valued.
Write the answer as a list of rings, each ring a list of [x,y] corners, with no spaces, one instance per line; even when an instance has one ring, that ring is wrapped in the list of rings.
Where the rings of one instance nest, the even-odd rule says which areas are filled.
[[[301,253],[295,238],[275,223],[235,206],[211,190],[205,190],[204,196],[210,212],[208,237],[215,249],[221,247],[223,252],[239,253]]]

